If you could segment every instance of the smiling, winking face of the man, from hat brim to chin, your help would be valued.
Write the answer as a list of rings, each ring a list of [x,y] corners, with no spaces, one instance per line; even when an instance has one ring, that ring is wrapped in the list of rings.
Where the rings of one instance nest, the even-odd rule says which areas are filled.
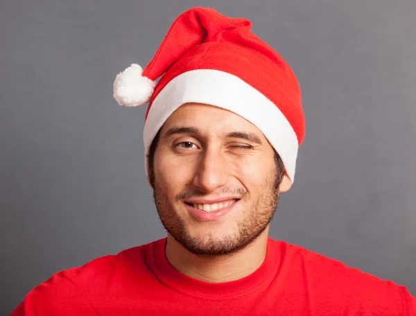
[[[276,168],[272,146],[252,123],[218,107],[182,105],[164,123],[155,150],[159,218],[194,254],[236,252],[275,213]]]

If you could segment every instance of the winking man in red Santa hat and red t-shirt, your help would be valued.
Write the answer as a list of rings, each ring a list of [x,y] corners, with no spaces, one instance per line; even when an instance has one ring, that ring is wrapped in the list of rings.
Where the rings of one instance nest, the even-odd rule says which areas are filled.
[[[416,315],[403,286],[268,238],[304,116],[290,67],[250,27],[193,8],[143,71],[116,77],[120,105],[149,102],[146,171],[167,238],[59,272],[12,315]]]

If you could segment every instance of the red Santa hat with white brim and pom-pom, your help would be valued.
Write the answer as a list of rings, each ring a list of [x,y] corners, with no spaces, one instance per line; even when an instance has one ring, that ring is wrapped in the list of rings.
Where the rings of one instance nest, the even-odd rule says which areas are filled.
[[[114,98],[119,105],[149,102],[146,157],[175,109],[184,103],[205,103],[256,125],[293,182],[297,150],[304,138],[300,87],[288,64],[250,32],[251,26],[247,19],[192,8],[175,19],[145,69],[132,64],[116,76]]]

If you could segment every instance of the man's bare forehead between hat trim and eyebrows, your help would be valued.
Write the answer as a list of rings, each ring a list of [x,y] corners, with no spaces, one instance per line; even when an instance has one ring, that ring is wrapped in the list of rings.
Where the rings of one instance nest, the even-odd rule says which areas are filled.
[[[197,127],[201,132],[223,133],[241,130],[255,132],[259,137],[264,137],[254,124],[238,114],[200,103],[187,103],[177,108],[164,123],[162,131],[179,125]]]

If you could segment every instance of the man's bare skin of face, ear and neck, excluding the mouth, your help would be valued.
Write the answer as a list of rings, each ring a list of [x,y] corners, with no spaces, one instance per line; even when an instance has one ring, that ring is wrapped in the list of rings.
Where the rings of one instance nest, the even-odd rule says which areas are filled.
[[[155,204],[168,231],[166,258],[176,270],[209,282],[257,270],[279,192],[291,180],[284,173],[276,186],[274,151],[256,126],[211,105],[182,105],[160,131],[153,168]],[[211,221],[192,216],[185,202],[224,197],[237,202]]]

